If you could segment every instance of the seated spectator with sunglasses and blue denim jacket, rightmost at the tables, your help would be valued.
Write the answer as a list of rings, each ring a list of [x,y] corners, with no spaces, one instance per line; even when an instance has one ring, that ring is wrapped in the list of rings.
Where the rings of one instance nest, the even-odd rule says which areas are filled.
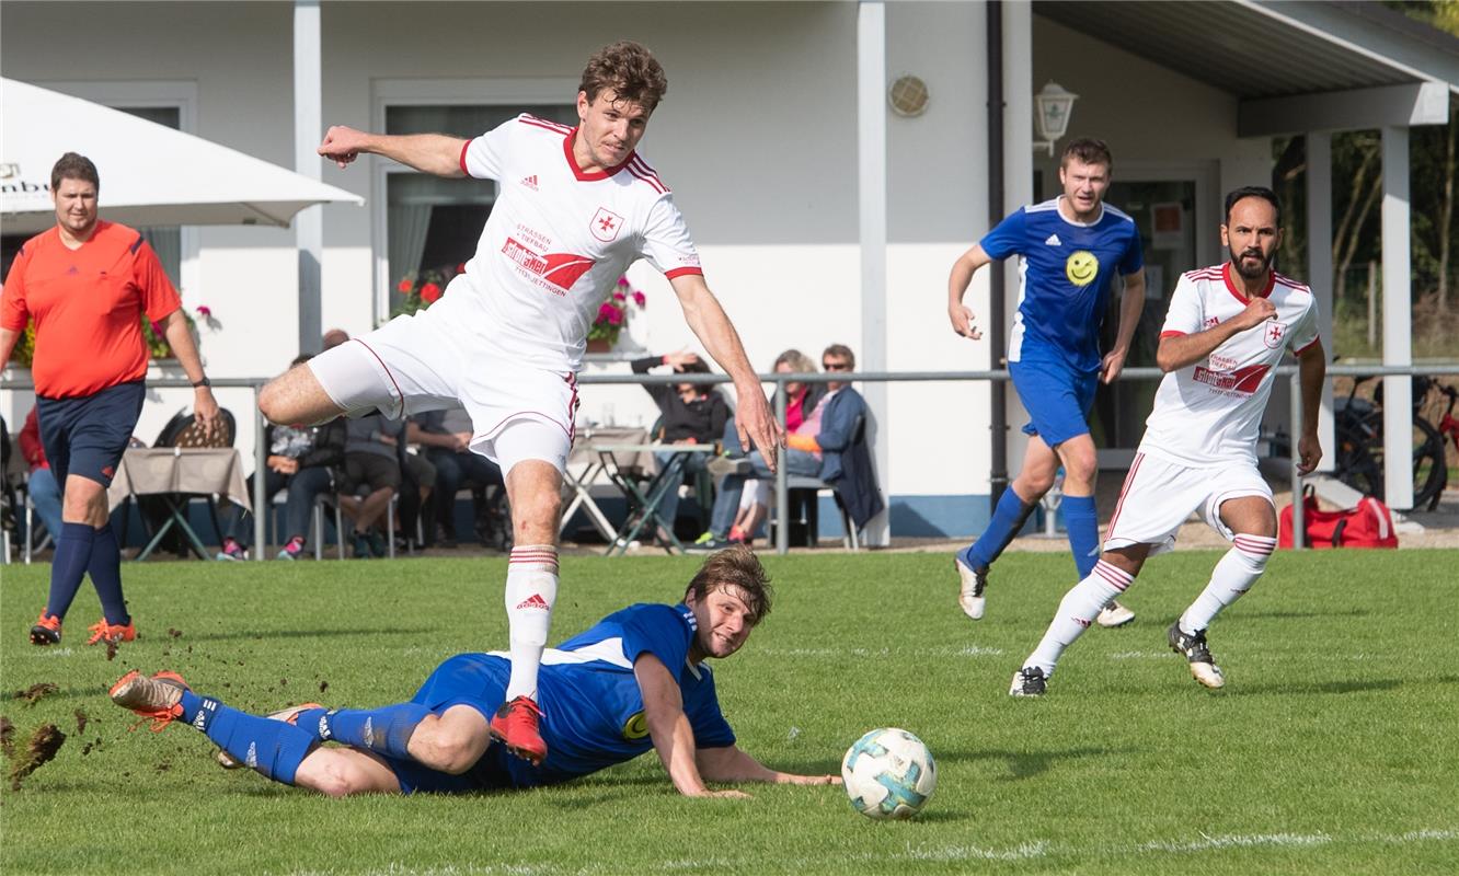
[[[856,357],[843,344],[832,344],[821,354],[821,366],[827,372],[851,372]],[[871,472],[870,453],[865,443],[858,443],[858,423],[865,420],[867,402],[849,382],[826,383],[826,395],[801,421],[800,427],[786,434],[786,449],[781,465],[791,475],[820,478],[836,488],[846,503],[852,520],[861,526],[881,510],[881,494]],[[734,429],[725,430],[727,450],[734,458],[740,442]],[[775,475],[765,464],[759,450],[744,456],[719,482],[713,515],[709,523],[709,538],[696,542],[697,550],[718,551],[734,541],[744,541],[746,533],[732,531],[740,497],[748,477],[772,480]]]

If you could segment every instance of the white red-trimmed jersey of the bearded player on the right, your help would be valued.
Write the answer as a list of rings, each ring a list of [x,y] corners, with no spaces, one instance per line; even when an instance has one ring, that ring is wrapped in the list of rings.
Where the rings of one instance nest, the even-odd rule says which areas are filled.
[[[1230,264],[1180,275],[1160,337],[1191,335],[1246,309]],[[1272,273],[1262,293],[1277,315],[1249,328],[1195,364],[1160,382],[1139,447],[1191,466],[1256,462],[1256,437],[1272,389],[1272,369],[1287,350],[1317,341],[1317,306],[1306,286]]]

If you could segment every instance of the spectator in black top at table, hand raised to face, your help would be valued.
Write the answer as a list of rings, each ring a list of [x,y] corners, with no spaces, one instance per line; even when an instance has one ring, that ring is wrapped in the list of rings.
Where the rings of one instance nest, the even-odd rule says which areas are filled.
[[[708,375],[709,364],[694,353],[668,353],[648,356],[633,361],[635,375],[646,375],[661,364],[671,366],[678,375]],[[654,398],[659,411],[659,434],[657,442],[670,445],[713,445],[730,421],[730,405],[724,394],[711,383],[645,383],[643,389]],[[670,452],[655,453],[659,465],[673,458]],[[693,480],[705,471],[708,453],[693,453],[684,459],[684,478]],[[670,525],[678,515],[678,484],[674,485],[658,506],[661,519]]]

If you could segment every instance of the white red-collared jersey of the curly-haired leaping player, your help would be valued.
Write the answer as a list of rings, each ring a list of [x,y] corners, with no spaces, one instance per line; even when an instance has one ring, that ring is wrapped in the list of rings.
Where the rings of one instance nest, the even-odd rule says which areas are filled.
[[[584,172],[575,128],[519,115],[461,150],[467,176],[499,195],[476,257],[448,296],[470,296],[468,331],[518,361],[576,372],[588,328],[623,271],[646,258],[668,278],[699,274],[699,254],[668,187],[636,152]],[[457,302],[460,306],[460,302]]]

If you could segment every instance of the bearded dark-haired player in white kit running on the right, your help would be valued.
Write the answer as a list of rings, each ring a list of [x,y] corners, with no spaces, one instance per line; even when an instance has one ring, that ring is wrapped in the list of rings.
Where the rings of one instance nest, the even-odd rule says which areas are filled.
[[[1228,194],[1221,243],[1230,252],[1226,264],[1183,274],[1176,284],[1156,354],[1166,378],[1104,533],[1104,552],[1094,571],[1065,593],[1039,647],[1014,673],[1008,692],[1015,697],[1043,694],[1064,649],[1100,606],[1135,582],[1147,557],[1174,545],[1191,512],[1231,541],[1231,550],[1167,638],[1199,684],[1226,684],[1205,630],[1256,583],[1277,547],[1271,487],[1256,471],[1272,369],[1288,350],[1297,357],[1301,474],[1322,459],[1317,410],[1328,369],[1312,290],[1271,267],[1281,246],[1277,195],[1261,187]]]

